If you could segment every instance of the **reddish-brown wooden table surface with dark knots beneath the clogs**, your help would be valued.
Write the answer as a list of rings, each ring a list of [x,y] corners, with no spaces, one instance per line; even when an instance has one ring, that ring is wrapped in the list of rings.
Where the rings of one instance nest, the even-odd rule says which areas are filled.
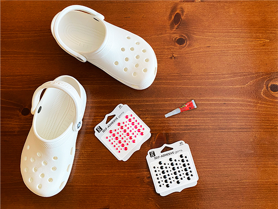
[[[157,76],[132,89],[62,50],[50,30],[63,8],[81,4],[144,38]],[[1,1],[2,209],[274,209],[278,207],[278,1]],[[66,187],[39,197],[23,183],[20,155],[36,88],[60,75],[87,92]],[[194,99],[197,108],[165,118]],[[93,128],[128,104],[151,137],[118,161]],[[197,186],[155,192],[149,149],[184,140]]]

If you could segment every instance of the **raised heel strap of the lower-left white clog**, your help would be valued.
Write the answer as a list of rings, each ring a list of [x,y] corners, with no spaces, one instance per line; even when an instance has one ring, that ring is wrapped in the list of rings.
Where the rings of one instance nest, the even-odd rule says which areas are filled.
[[[73,99],[74,105],[75,105],[75,111],[76,111],[73,130],[74,131],[80,130],[80,128],[82,126],[82,118],[83,118],[83,112],[82,112],[83,108],[82,108],[81,99],[80,99],[79,94],[75,90],[75,88],[71,84],[68,84],[66,82],[49,81],[49,82],[46,82],[46,83],[42,84],[41,86],[39,86],[37,88],[37,90],[35,91],[33,98],[32,98],[31,113],[33,115],[35,114],[37,107],[38,107],[40,95],[41,95],[43,89],[45,89],[45,88],[56,88],[56,89],[62,90]]]

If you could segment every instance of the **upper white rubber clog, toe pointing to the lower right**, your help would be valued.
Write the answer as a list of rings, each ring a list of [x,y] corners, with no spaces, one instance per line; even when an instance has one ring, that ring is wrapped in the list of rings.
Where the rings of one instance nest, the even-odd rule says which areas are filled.
[[[81,5],[59,12],[51,23],[56,42],[81,62],[90,62],[134,89],[148,88],[157,72],[151,46],[141,37],[104,21]]]

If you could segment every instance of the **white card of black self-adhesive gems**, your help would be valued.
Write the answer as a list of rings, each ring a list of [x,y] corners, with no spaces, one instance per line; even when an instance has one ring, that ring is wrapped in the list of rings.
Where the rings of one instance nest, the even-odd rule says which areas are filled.
[[[172,149],[161,152],[166,146]],[[150,149],[146,158],[155,190],[161,196],[197,185],[197,170],[184,141]]]

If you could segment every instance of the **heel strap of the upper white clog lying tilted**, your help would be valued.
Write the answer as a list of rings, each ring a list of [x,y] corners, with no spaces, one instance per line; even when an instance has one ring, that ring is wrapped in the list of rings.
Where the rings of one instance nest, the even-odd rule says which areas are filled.
[[[83,12],[87,12],[101,20],[104,20],[104,16],[96,11],[94,11],[91,8],[88,8],[86,6],[81,6],[81,5],[72,5],[72,6],[68,6],[65,9],[63,9],[61,12],[59,12],[55,18],[53,19],[52,23],[51,23],[51,30],[54,34],[54,37],[56,39],[56,41],[58,42],[58,44],[66,51],[68,52],[70,55],[74,56],[77,60],[85,63],[87,61],[87,59],[75,52],[73,49],[71,49],[70,47],[68,47],[60,38],[59,33],[58,33],[58,28],[59,28],[59,22],[62,20],[62,18],[69,12],[74,11],[74,10],[78,10],[78,11],[83,11]],[[105,40],[107,41],[107,40]]]

